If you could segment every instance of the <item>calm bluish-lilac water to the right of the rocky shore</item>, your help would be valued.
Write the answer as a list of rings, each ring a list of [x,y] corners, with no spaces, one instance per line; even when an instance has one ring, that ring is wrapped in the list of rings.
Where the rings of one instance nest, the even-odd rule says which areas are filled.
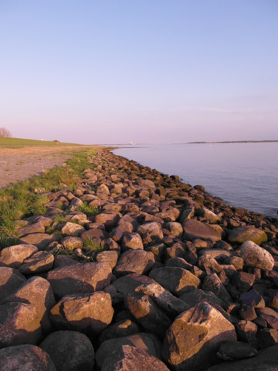
[[[128,145],[113,153],[201,184],[231,206],[277,217],[278,142]]]

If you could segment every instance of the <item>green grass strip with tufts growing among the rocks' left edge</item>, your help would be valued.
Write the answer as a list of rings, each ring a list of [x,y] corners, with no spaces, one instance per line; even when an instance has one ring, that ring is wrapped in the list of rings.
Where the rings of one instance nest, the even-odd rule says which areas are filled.
[[[66,161],[67,166],[54,167],[44,171],[42,175],[34,176],[26,181],[22,181],[5,188],[0,189],[0,250],[7,246],[18,243],[16,230],[27,223],[28,218],[46,213],[45,203],[48,202],[47,192],[53,192],[67,188],[74,190],[78,184],[78,179],[84,175],[86,168],[92,168],[96,165],[90,163],[87,157],[91,158],[97,153],[97,147],[90,146],[84,150],[72,152],[72,157]],[[67,210],[53,219],[52,225],[46,231],[49,234],[56,234],[59,239],[63,235],[59,231],[59,226],[66,223]],[[84,205],[80,211],[87,216],[98,213],[98,210]],[[24,222],[25,221],[25,222]],[[77,222],[77,221],[76,221]],[[82,223],[82,221],[78,221]],[[83,250],[88,253],[99,249],[92,241],[85,241]],[[59,249],[56,253],[60,253]],[[67,255],[72,252],[65,251]]]

